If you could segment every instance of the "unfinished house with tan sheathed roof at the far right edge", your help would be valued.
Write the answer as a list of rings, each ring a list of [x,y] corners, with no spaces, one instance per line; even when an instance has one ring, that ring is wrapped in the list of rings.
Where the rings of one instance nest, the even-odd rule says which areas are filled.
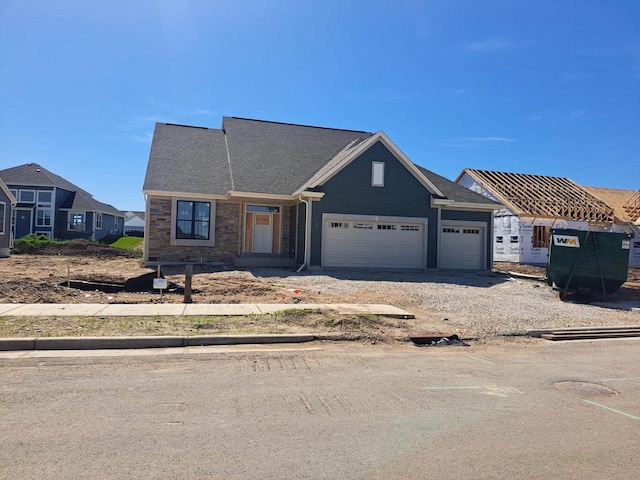
[[[629,251],[629,265],[640,267],[640,190],[602,187],[584,187],[584,189],[613,208],[614,232],[634,234]]]

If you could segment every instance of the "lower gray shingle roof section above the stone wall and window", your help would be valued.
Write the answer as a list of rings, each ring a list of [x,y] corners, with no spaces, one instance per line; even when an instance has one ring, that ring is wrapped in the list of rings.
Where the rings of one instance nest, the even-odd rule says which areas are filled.
[[[222,130],[156,123],[143,189],[226,194],[231,176]]]

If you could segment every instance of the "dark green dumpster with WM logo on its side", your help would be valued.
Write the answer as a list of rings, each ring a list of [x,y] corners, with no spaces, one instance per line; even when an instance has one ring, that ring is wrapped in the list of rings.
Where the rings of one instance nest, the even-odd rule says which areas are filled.
[[[613,293],[627,281],[628,233],[551,229],[547,282],[567,293]]]

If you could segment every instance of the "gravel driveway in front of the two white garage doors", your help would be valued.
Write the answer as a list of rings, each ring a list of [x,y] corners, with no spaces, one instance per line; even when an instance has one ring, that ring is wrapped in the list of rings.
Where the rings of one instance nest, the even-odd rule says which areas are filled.
[[[416,331],[456,330],[484,337],[540,328],[640,324],[637,311],[561,301],[545,282],[500,273],[336,269],[300,274],[255,270],[249,275],[283,288],[313,291],[319,301],[395,305],[416,315]]]

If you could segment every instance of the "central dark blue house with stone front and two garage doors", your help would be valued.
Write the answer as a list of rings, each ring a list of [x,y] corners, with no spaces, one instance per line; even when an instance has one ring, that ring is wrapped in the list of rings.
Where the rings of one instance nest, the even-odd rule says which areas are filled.
[[[501,207],[384,132],[234,117],[156,124],[143,192],[148,265],[487,269]]]

